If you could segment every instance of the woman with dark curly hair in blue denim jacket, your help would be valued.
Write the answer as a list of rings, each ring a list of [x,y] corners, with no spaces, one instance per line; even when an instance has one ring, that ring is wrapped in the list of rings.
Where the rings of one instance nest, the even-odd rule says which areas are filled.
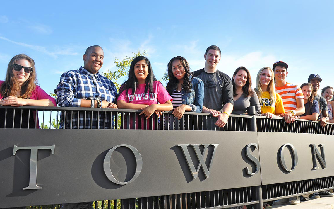
[[[185,111],[202,112],[204,83],[190,73],[189,64],[181,56],[174,57],[168,63],[166,89],[173,98],[173,115],[182,118]]]

